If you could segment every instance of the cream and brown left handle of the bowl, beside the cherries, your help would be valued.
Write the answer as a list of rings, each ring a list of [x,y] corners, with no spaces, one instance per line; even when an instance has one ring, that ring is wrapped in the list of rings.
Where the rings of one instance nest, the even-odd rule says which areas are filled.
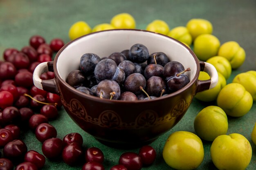
[[[38,66],[36,66],[34,73],[33,73],[34,85],[41,90],[58,94],[59,91],[56,86],[55,79],[49,79],[49,80],[40,79],[40,75],[47,71],[53,72],[53,61],[43,62],[43,63],[38,64]]]

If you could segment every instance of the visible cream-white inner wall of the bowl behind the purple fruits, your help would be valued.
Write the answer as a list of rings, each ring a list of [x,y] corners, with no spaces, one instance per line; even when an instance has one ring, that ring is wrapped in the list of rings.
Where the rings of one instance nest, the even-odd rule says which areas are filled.
[[[57,70],[62,79],[79,69],[80,58],[85,53],[95,53],[99,57],[108,57],[111,53],[121,52],[134,44],[143,44],[149,54],[163,52],[171,61],[177,61],[190,68],[186,72],[190,80],[196,73],[196,62],[189,49],[184,44],[164,35],[138,30],[110,30],[83,36],[68,44],[59,54]]]

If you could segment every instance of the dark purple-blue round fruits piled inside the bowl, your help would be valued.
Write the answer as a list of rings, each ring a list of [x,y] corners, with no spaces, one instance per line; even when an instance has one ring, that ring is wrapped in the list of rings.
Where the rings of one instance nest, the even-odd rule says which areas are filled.
[[[165,53],[149,55],[146,46],[134,44],[102,59],[94,53],[83,54],[80,69],[71,71],[66,82],[78,91],[100,98],[148,100],[186,86],[186,71],[190,68],[170,61]]]

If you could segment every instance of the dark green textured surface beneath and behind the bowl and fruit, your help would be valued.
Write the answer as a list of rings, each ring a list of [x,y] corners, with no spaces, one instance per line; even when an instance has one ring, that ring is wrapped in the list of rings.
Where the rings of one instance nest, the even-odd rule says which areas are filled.
[[[130,13],[137,22],[137,29],[145,29],[146,25],[155,19],[164,20],[170,29],[175,26],[185,26],[191,18],[204,18],[213,24],[213,35],[221,43],[236,41],[247,54],[245,63],[232,72],[228,79],[230,83],[238,73],[256,70],[256,1],[255,0],[0,0],[0,54],[6,48],[21,49],[28,45],[29,38],[38,34],[45,37],[49,43],[52,38],[62,38],[69,41],[68,30],[79,20],[88,22],[93,27],[96,24],[108,23],[118,14]],[[2,57],[2,56],[1,56]],[[157,158],[152,166],[143,170],[171,170],[162,158],[162,149],[167,137],[175,131],[186,130],[194,132],[193,121],[197,113],[205,106],[214,103],[202,103],[194,99],[183,119],[170,131],[159,137],[151,146],[157,151]],[[159,108],[161,109],[161,108]],[[245,116],[229,119],[227,134],[240,133],[251,143],[253,149],[252,160],[247,170],[256,169],[256,146],[251,139],[251,132],[256,122],[256,104]],[[83,135],[85,148],[95,146],[100,148],[105,160],[106,170],[118,163],[119,156],[126,151],[106,147],[93,137],[81,130],[61,110],[58,119],[51,121],[58,131],[57,137],[63,138],[70,132],[79,132]],[[27,144],[28,150],[40,153],[41,143],[34,133],[22,131],[21,139]],[[210,157],[211,142],[203,141],[204,161],[197,170],[216,170]],[[49,161],[47,159],[43,170],[81,170],[81,165],[70,167],[63,161]]]

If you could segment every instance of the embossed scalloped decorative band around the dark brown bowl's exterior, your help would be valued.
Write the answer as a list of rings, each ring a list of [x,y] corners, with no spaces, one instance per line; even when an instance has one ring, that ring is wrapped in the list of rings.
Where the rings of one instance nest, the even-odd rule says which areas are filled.
[[[121,119],[119,114],[113,110],[105,110],[99,115],[99,117],[91,117],[87,114],[86,109],[77,99],[71,99],[69,104],[65,101],[62,101],[62,103],[77,118],[83,119],[85,122],[96,124],[101,127],[117,129],[140,129],[157,126],[165,123],[166,121],[170,121],[171,119],[176,119],[188,108],[186,101],[184,99],[180,99],[176,102],[171,112],[165,117],[158,117],[158,114],[153,110],[145,110],[137,116],[134,122],[126,123]]]

